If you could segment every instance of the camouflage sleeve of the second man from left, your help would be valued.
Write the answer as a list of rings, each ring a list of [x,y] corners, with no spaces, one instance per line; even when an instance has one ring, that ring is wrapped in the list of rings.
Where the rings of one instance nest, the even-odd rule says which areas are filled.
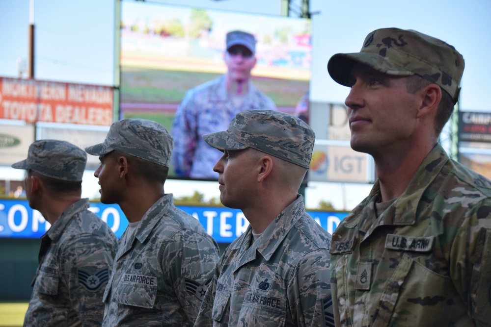
[[[191,322],[196,320],[217,261],[217,243],[192,230],[179,231],[165,248],[162,267]]]

